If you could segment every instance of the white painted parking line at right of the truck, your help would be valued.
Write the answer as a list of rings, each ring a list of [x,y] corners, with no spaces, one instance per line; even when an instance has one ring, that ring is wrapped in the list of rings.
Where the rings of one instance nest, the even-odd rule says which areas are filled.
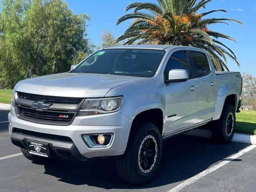
[[[182,190],[183,188],[185,188],[185,187],[189,186],[190,184],[196,182],[197,180],[199,180],[200,178],[206,176],[207,174],[209,174],[209,173],[211,173],[211,172],[217,170],[218,168],[220,168],[220,167],[222,167],[222,166],[228,164],[230,161],[232,161],[232,160],[238,158],[239,156],[241,156],[241,155],[243,155],[243,154],[249,152],[250,150],[252,150],[252,149],[255,148],[255,147],[256,147],[256,145],[250,145],[250,146],[248,146],[247,148],[241,150],[241,151],[238,152],[237,154],[234,154],[234,155],[232,155],[231,157],[229,157],[229,158],[227,158],[227,159],[221,161],[220,163],[218,163],[218,164],[216,164],[216,165],[214,165],[214,166],[212,166],[212,167],[210,167],[210,168],[208,168],[208,169],[206,169],[206,170],[204,170],[204,171],[198,173],[197,175],[195,175],[195,176],[189,178],[188,180],[184,181],[183,183],[179,184],[178,186],[176,186],[176,187],[170,189],[168,192],[178,192],[178,191]]]

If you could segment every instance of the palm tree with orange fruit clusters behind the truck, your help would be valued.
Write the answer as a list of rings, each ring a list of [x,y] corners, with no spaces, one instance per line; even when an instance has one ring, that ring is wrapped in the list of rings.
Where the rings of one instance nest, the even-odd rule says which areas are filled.
[[[158,4],[131,3],[126,6],[125,11],[134,9],[134,12],[120,17],[116,24],[128,19],[134,20],[117,41],[126,40],[125,44],[194,46],[209,53],[216,70],[228,70],[226,56],[240,66],[234,52],[218,38],[236,40],[209,30],[208,26],[217,23],[228,24],[228,21],[242,23],[228,18],[204,18],[212,12],[227,12],[219,9],[199,13],[200,8],[204,8],[210,1],[212,0],[157,0]]]

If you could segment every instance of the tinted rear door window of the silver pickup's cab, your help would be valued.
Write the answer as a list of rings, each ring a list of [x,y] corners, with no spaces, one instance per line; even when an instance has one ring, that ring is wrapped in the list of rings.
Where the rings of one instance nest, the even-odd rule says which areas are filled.
[[[190,52],[196,68],[196,75],[198,77],[201,77],[208,74],[210,72],[210,66],[208,64],[206,55],[204,53],[196,52],[196,51],[190,51]]]

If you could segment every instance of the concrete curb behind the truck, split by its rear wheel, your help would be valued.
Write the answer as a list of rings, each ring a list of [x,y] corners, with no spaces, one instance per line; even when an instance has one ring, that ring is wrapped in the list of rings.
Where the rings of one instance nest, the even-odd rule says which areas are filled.
[[[191,136],[204,137],[204,138],[211,138],[211,136],[212,136],[212,133],[210,130],[199,129],[199,128],[194,128],[192,130],[187,131],[184,134],[191,135]],[[235,133],[232,138],[232,141],[241,142],[241,143],[250,143],[250,144],[255,145],[256,144],[256,135]]]

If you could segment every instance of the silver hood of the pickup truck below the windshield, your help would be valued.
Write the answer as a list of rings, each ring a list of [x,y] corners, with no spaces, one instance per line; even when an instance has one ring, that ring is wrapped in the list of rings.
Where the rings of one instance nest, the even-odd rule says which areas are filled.
[[[50,96],[104,97],[114,87],[143,79],[110,74],[60,73],[22,80],[14,89]]]

